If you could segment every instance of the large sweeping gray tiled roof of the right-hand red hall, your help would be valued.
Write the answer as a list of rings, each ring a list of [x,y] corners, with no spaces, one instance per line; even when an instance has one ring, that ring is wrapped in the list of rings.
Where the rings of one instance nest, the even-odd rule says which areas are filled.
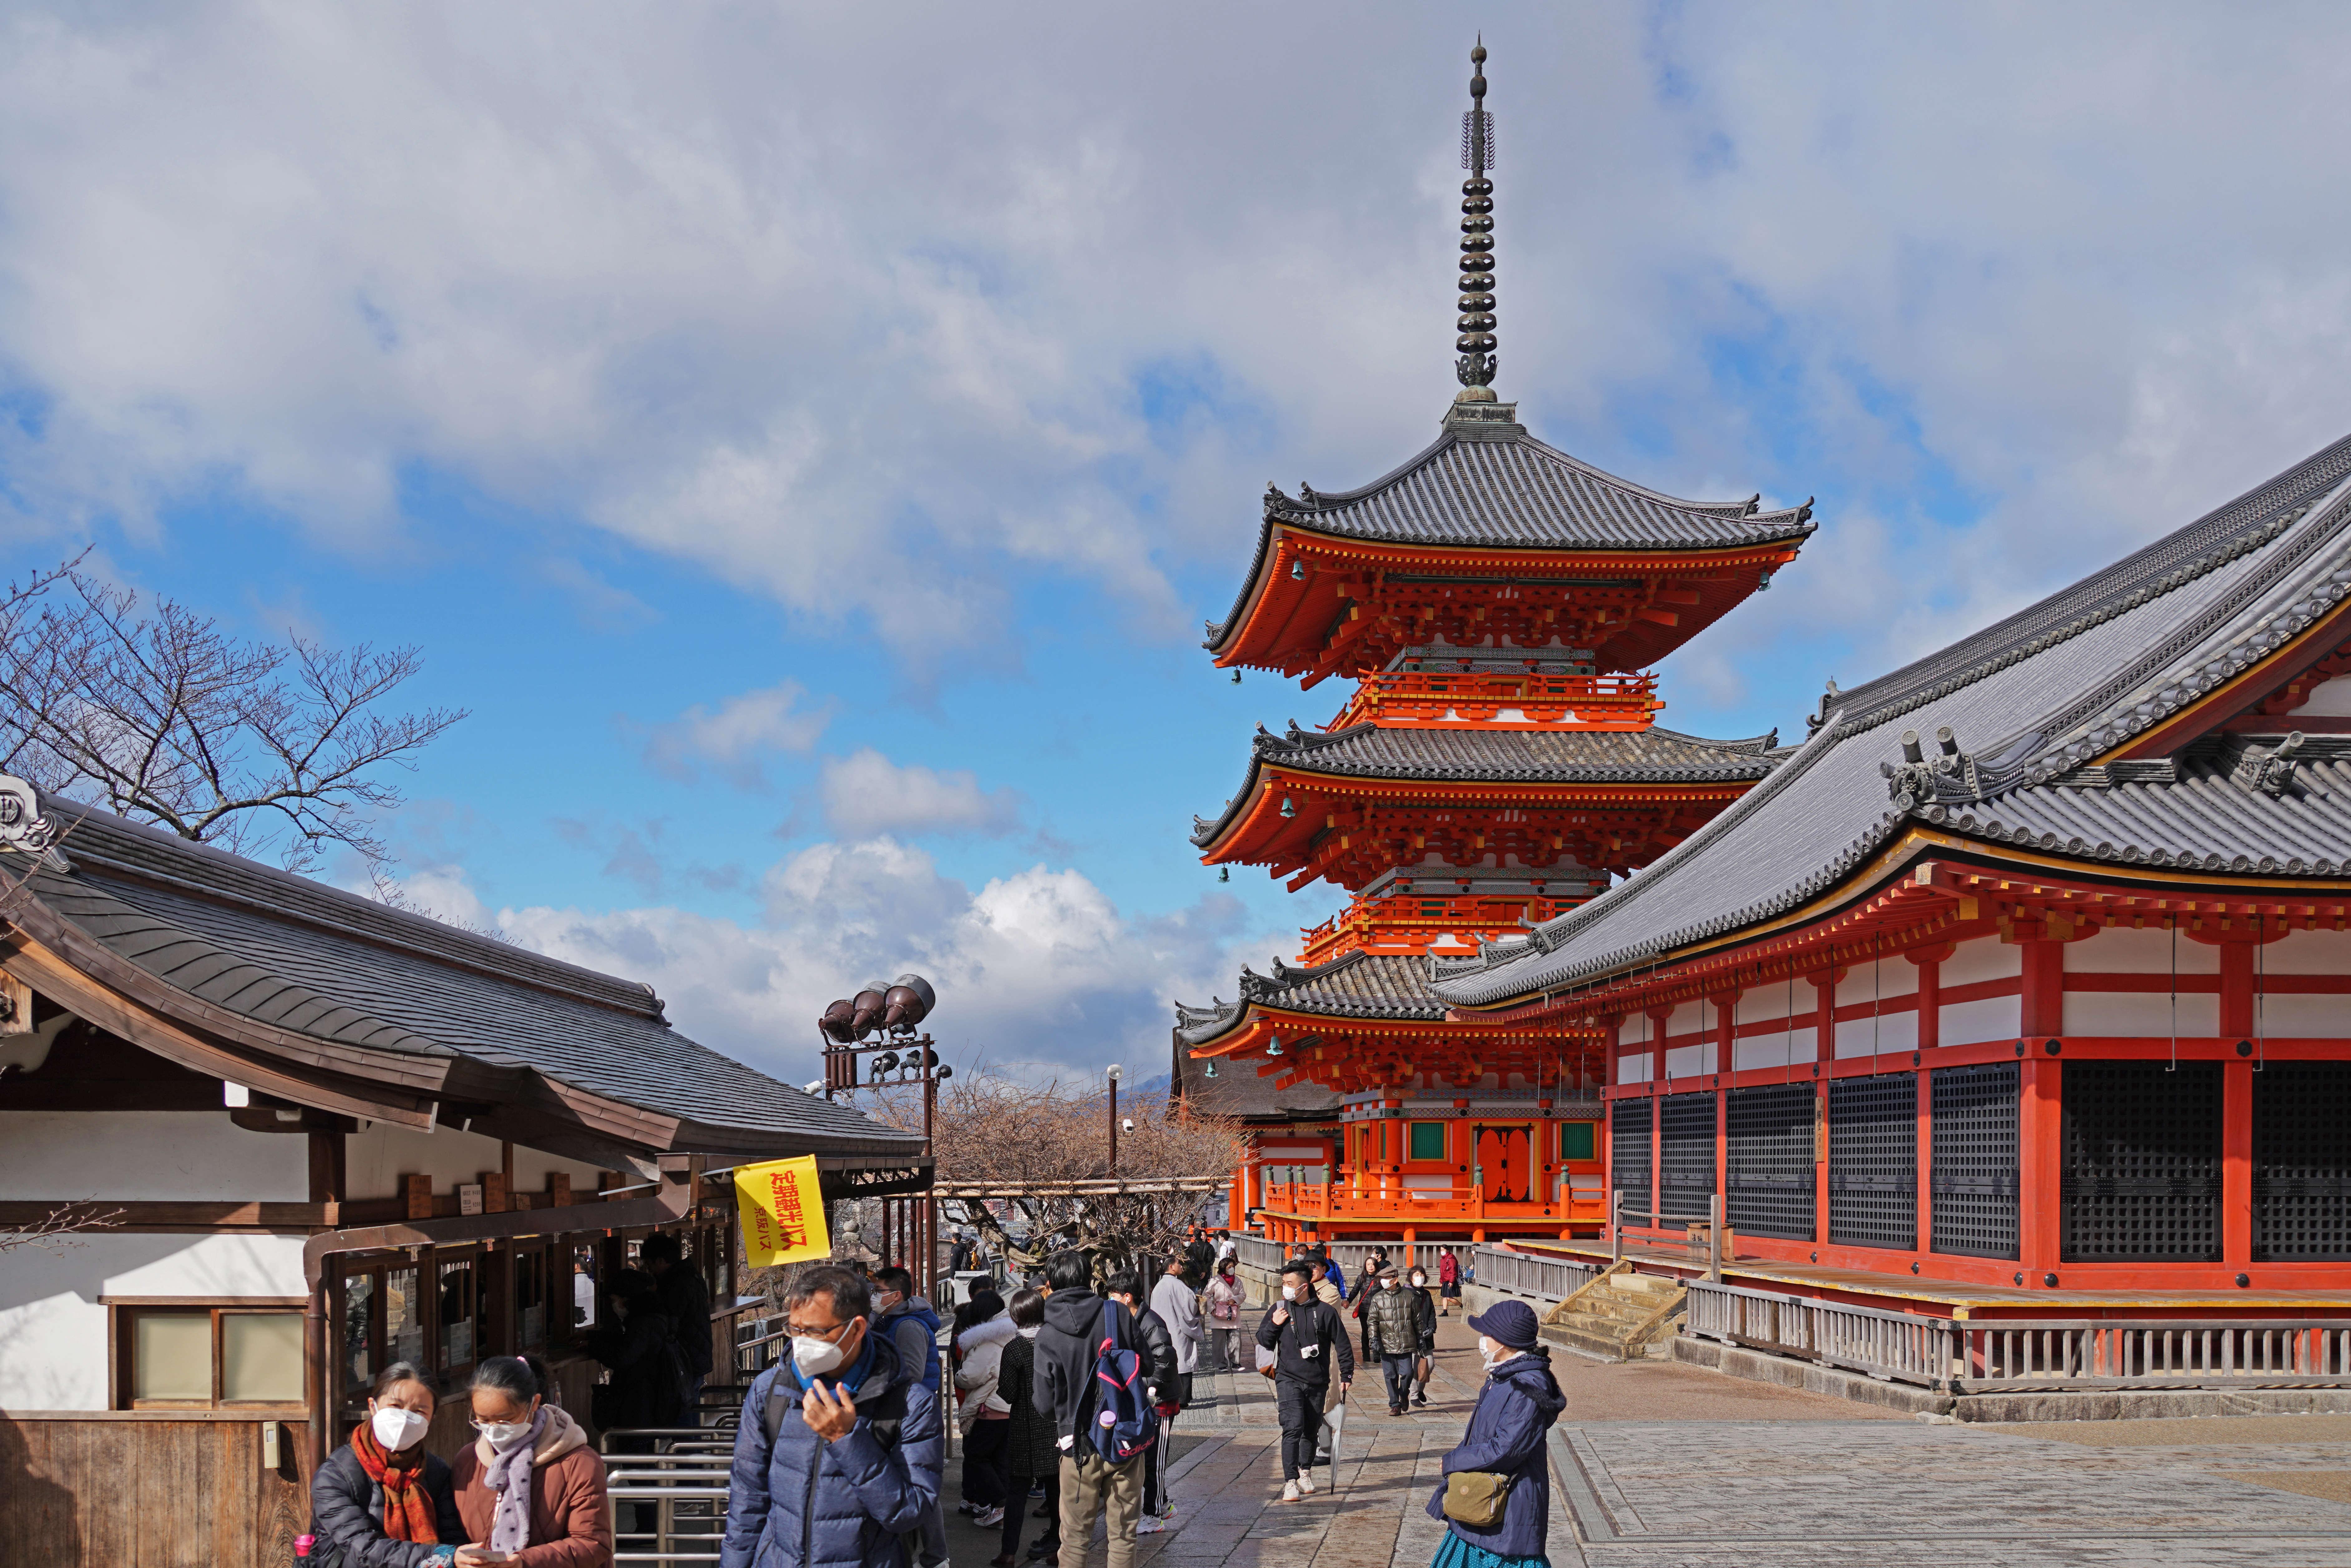
[[[1834,889],[1914,818],[2003,842],[2031,835],[2083,858],[2217,858],[2255,875],[2299,860],[2339,875],[2351,818],[2335,759],[2297,769],[2278,795],[2196,757],[2177,783],[2130,769],[2123,783],[2090,780],[2083,764],[2351,592],[2346,475],[2351,440],[1989,632],[1831,696],[1820,731],[1737,804],[1639,877],[1545,922],[1526,947],[1439,961],[1439,994],[1493,1004],[1737,931]],[[1900,773],[1900,733],[1937,726],[1954,731],[1961,762]],[[1925,748],[1933,757],[1933,738]]]

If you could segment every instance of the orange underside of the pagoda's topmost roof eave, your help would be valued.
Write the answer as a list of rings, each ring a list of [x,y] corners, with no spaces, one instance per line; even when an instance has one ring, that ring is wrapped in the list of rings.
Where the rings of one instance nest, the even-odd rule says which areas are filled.
[[[1756,583],[1744,581],[1749,574],[1761,578],[1761,574],[1777,571],[1796,559],[1803,545],[1801,538],[1791,538],[1714,550],[1439,548],[1324,534],[1295,520],[1270,527],[1272,538],[1248,585],[1246,609],[1227,621],[1223,635],[1208,644],[1220,670],[1317,672],[1338,642],[1349,611],[1378,614],[1378,597],[1385,592],[1389,574],[1399,578],[1460,574],[1472,583],[1483,578],[1486,585],[1523,588],[1599,588],[1589,578],[1608,578],[1610,588],[1617,583],[1622,588],[1655,588],[1660,581],[1740,583],[1719,604],[1695,607],[1676,599],[1674,607],[1653,609],[1641,621],[1627,621],[1627,628],[1646,628],[1650,646],[1643,646],[1641,658],[1625,668],[1648,665],[1744,602],[1756,590]],[[1295,576],[1298,571],[1302,576]],[[1413,588],[1425,588],[1425,583]],[[1676,635],[1665,637],[1667,628]],[[1319,670],[1314,679],[1328,672]]]

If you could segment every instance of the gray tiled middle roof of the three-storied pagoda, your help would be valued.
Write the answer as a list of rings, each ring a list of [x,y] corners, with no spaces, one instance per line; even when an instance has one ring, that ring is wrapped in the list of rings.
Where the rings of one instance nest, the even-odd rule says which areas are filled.
[[[1251,743],[1248,776],[1215,818],[1192,818],[1192,842],[1206,846],[1251,799],[1258,771],[1277,764],[1342,778],[1444,778],[1460,783],[1740,783],[1770,773],[1784,752],[1780,733],[1702,741],[1672,729],[1448,729],[1349,724],[1328,736],[1291,722],[1286,736],[1262,724]]]

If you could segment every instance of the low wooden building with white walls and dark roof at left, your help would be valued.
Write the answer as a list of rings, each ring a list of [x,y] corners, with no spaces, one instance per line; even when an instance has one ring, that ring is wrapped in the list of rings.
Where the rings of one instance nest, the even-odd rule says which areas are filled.
[[[282,1563],[414,1361],[538,1352],[590,1420],[597,1281],[656,1229],[734,1302],[734,1190],[929,1185],[922,1140],[668,1025],[644,985],[0,780],[0,1563]],[[26,1027],[28,1025],[28,1027]],[[708,1326],[729,1380],[731,1321]],[[428,1443],[465,1441],[444,1399]]]

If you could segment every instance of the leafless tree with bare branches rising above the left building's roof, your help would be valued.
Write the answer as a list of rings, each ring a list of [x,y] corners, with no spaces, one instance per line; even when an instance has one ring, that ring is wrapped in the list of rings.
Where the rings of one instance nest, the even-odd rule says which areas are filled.
[[[176,599],[141,609],[85,557],[0,590],[0,769],[287,870],[329,846],[381,867],[383,771],[465,717],[376,712],[418,651],[245,642]]]

